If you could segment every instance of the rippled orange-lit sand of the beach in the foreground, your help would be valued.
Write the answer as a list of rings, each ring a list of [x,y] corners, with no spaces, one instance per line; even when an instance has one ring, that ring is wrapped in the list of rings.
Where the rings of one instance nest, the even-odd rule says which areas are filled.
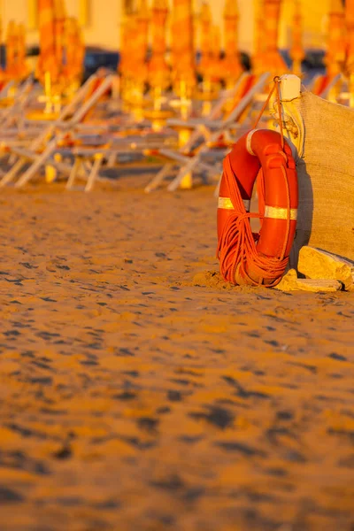
[[[211,188],[2,190],[2,531],[352,531],[354,293],[226,285]]]

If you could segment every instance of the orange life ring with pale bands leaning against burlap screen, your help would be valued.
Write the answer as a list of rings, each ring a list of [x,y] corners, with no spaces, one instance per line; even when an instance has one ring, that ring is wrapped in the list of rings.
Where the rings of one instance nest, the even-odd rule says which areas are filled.
[[[259,214],[250,213],[258,176]],[[259,185],[259,181],[260,185]],[[281,280],[296,232],[296,164],[276,131],[253,129],[224,160],[219,188],[218,258],[226,281],[272,287]],[[250,218],[261,219],[252,234]]]

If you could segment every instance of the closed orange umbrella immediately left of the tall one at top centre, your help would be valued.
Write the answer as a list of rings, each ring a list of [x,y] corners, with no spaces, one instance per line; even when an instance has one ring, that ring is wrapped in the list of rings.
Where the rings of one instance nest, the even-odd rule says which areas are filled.
[[[152,58],[149,64],[149,81],[153,88],[165,89],[169,79],[165,61],[167,16],[167,1],[154,0],[151,10]]]

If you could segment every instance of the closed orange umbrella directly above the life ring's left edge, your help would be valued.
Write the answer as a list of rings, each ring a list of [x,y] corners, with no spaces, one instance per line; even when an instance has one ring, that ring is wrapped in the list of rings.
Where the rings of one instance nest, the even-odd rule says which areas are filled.
[[[224,10],[224,39],[225,39],[225,59],[223,61],[223,77],[227,80],[227,85],[233,85],[242,73],[238,50],[238,21],[240,14],[237,0],[226,0]]]

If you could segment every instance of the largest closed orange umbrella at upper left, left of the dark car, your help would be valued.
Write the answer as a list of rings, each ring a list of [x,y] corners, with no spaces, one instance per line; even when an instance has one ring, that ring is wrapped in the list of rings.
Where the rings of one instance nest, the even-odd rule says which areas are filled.
[[[39,43],[37,75],[44,81],[45,73],[50,74],[51,83],[58,81],[58,62],[56,57],[54,0],[38,0]]]

